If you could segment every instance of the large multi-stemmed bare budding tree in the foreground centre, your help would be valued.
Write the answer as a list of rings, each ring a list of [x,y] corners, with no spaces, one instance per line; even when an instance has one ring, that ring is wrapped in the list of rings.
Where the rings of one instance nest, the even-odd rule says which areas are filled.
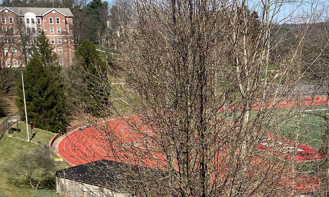
[[[292,118],[301,117],[301,110],[277,108],[288,102],[301,109],[301,100],[288,93],[306,75],[302,68],[316,66],[323,53],[314,53],[313,61],[298,59],[316,12],[286,29],[276,20],[284,4],[262,1],[250,8],[249,3],[134,2],[136,12],[122,26],[124,42],[116,62],[126,84],[118,81],[112,87],[104,78],[96,83],[98,89],[113,90],[108,100],[120,98],[113,109],[100,110],[115,110],[127,132],[98,125],[97,137],[112,159],[165,171],[167,180],[157,187],[142,178],[134,184],[127,180],[124,189],[133,186],[137,196],[315,192],[308,187],[312,178],[296,170],[298,147],[272,145],[283,143],[275,136]],[[122,108],[134,115],[122,115]],[[288,132],[290,140],[299,140],[298,124]],[[287,148],[292,149],[287,153]]]

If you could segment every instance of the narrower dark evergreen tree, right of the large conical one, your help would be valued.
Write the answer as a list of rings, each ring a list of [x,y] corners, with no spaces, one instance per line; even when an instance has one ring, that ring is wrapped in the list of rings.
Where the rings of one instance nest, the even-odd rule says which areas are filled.
[[[106,90],[101,83],[104,80],[102,78],[107,78],[107,68],[104,60],[100,57],[99,52],[96,51],[95,45],[89,40],[84,40],[81,43],[75,55],[79,64],[86,72],[84,81],[88,91],[84,97],[90,98],[85,100],[89,103],[88,110],[90,110],[91,115],[96,117],[107,116],[100,110],[108,105],[108,100],[104,100],[104,95],[109,90]]]

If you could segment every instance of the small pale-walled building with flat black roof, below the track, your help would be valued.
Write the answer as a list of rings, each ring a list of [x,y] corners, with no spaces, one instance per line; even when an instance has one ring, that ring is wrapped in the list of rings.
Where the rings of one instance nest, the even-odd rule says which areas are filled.
[[[56,171],[56,190],[70,197],[134,196],[127,188],[138,182],[137,173],[149,180],[166,177],[161,170],[103,159]]]

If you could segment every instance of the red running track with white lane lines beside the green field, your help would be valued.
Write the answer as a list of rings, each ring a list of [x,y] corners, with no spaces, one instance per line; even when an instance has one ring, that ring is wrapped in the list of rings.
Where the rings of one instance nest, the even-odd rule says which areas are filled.
[[[302,105],[323,105],[326,103],[326,97],[318,97],[315,99],[305,98],[302,102]],[[283,101],[275,105],[275,108],[291,106],[295,106],[295,103]],[[257,109],[258,106],[255,106],[254,108]],[[134,131],[131,126],[128,126],[128,124],[135,125],[138,121],[138,117],[132,117],[131,120],[126,121],[123,119],[115,119],[108,121],[105,126],[99,125],[98,128],[91,127],[84,128],[83,131],[75,131],[61,140],[58,146],[59,154],[64,160],[66,160],[68,163],[71,163],[72,165],[85,164],[100,159],[124,162],[122,160],[127,158],[127,156],[133,158],[135,160],[135,164],[138,163],[140,165],[147,166],[157,165],[158,167],[159,165],[164,165],[164,155],[159,154],[159,151],[154,150],[152,152],[152,150],[150,151],[148,149],[148,151],[145,152],[141,150],[145,149],[145,146],[147,146],[147,144],[145,144],[145,142],[147,143],[147,139],[144,139],[145,136],[136,134],[136,131]],[[139,129],[140,131],[145,132],[150,130],[145,126],[140,126]],[[103,131],[107,132],[105,133]],[[302,146],[302,144],[298,145]],[[259,148],[266,148],[264,146],[264,142],[263,145],[259,145]],[[311,147],[304,146],[299,148],[305,151],[312,151],[314,155],[310,156],[309,153],[305,154],[308,155],[307,158],[306,156],[303,157],[301,155],[297,155],[295,157],[295,160],[297,159],[297,161],[321,159],[322,157],[316,153],[316,149]],[[140,151],[139,153],[143,154],[144,159],[139,160],[139,158],[135,158],[134,153],[137,151]]]

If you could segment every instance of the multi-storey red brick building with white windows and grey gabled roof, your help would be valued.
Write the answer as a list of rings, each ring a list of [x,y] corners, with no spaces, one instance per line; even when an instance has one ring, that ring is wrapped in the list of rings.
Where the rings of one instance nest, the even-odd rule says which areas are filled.
[[[74,57],[72,22],[68,8],[0,7],[3,67],[25,66],[31,48],[42,31],[54,47],[61,65],[72,64]]]

